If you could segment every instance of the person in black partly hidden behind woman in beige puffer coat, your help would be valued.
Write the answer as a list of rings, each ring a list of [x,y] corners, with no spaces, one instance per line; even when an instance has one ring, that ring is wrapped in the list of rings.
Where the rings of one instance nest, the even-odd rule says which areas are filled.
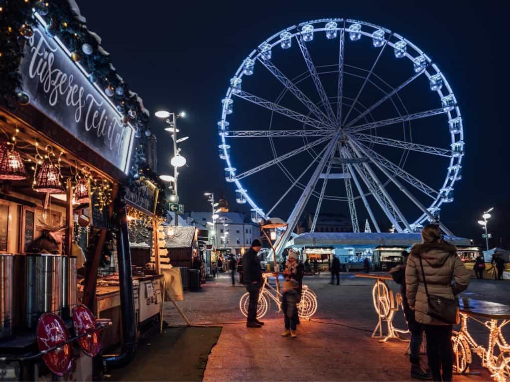
[[[407,321],[407,328],[411,332],[411,344],[409,346],[411,362],[411,377],[418,379],[432,379],[430,372],[425,370],[420,364],[420,347],[423,341],[423,325],[416,321],[414,310],[411,309],[407,302],[407,294],[405,288],[405,266],[407,264],[407,257],[409,253],[402,251],[403,264],[397,265],[390,269],[390,275],[397,284],[400,285],[400,294],[402,295],[402,306],[404,310],[405,320]]]

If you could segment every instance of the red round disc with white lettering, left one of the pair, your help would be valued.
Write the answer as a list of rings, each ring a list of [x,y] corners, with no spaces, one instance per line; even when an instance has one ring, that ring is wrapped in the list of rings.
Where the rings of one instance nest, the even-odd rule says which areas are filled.
[[[62,345],[42,356],[48,369],[58,376],[67,374],[71,369],[72,349],[70,344],[65,344],[68,339],[69,332],[59,316],[53,313],[44,313],[39,318],[37,324],[39,351]]]

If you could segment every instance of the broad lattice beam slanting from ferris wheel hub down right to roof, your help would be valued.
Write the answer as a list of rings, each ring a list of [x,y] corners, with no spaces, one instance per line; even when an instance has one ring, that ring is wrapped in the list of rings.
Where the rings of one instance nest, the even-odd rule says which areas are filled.
[[[352,145],[350,141],[348,141],[350,148],[352,149],[354,155],[358,158],[363,157],[359,150],[356,149],[355,146]],[[386,188],[381,183],[377,175],[373,172],[367,162],[360,163],[360,165],[355,165],[354,168],[358,171],[362,180],[365,182],[366,186],[374,196],[375,200],[382,208],[382,210],[386,213],[391,223],[395,226],[398,232],[403,232],[400,224],[402,224],[406,229],[411,231],[411,226],[407,223],[404,215],[400,212],[400,209],[397,207],[393,199],[388,194]]]

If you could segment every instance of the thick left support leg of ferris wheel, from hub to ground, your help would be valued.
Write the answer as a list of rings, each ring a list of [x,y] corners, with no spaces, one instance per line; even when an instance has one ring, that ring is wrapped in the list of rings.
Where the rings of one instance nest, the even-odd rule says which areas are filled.
[[[317,185],[317,181],[320,178],[320,174],[322,173],[322,170],[324,169],[324,166],[326,165],[326,162],[330,159],[331,153],[335,150],[336,143],[338,141],[338,138],[340,137],[340,129],[337,130],[335,137],[327,144],[326,150],[324,151],[324,154],[322,155],[322,158],[319,162],[319,165],[315,168],[312,176],[310,177],[310,180],[307,183],[307,186],[304,188],[303,193],[299,197],[297,203],[295,204],[294,208],[292,209],[292,212],[289,215],[289,218],[287,219],[288,227],[285,230],[285,232],[282,235],[281,243],[282,245],[279,245],[276,249],[276,253],[278,255],[281,255],[284,250],[284,245],[289,241],[292,231],[294,231],[294,228],[296,228],[296,224],[298,220],[300,219],[304,208],[307,206],[308,201],[310,200],[310,197],[313,194],[313,190],[315,189],[315,186]]]

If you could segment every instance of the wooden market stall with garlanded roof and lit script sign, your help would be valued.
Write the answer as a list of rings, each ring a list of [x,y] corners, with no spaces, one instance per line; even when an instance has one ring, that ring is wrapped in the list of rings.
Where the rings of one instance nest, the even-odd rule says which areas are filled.
[[[145,164],[148,112],[74,2],[14,3],[2,8],[15,44],[2,52],[0,364],[14,380],[92,380],[103,365],[130,362],[137,317],[147,313],[140,307],[161,302],[158,276],[133,277],[126,207],[143,211],[137,198],[146,192],[157,227],[161,185]],[[89,311],[95,319],[110,313],[103,343],[119,346],[115,356],[101,359],[94,328],[105,325],[94,317],[93,329],[80,332],[88,326],[78,317]],[[50,322],[40,326],[40,317]],[[58,331],[46,333],[52,345],[41,337],[44,328]],[[84,336],[93,352],[79,350]],[[55,357],[41,358],[42,350]]]

